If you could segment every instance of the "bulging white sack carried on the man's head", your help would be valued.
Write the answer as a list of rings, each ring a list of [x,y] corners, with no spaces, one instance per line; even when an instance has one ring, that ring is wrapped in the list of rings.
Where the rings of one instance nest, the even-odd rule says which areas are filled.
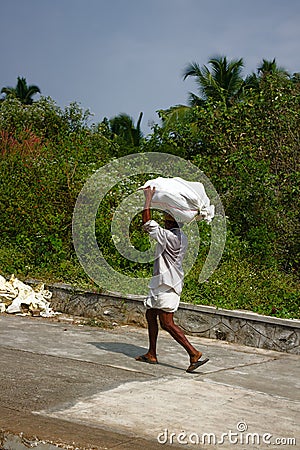
[[[158,177],[139,189],[147,187],[155,187],[153,208],[169,212],[178,222],[189,223],[195,219],[210,223],[215,215],[215,207],[210,204],[202,183],[180,177]]]

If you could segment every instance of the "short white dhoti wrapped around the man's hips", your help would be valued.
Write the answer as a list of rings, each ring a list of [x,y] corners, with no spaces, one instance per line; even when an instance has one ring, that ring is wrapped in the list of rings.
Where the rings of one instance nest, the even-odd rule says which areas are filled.
[[[180,295],[173,288],[161,284],[155,289],[150,289],[144,304],[146,308],[162,309],[165,312],[175,312],[179,307]]]

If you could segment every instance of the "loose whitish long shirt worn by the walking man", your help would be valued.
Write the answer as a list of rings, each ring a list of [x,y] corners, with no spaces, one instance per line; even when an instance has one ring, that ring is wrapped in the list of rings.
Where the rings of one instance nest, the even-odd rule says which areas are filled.
[[[143,228],[157,241],[150,289],[156,290],[164,284],[180,295],[184,278],[182,262],[188,245],[186,235],[179,228],[166,230],[155,220],[149,220]]]

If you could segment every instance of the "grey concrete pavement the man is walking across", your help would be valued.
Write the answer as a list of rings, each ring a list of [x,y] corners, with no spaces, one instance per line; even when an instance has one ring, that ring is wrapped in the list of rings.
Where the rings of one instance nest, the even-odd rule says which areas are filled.
[[[162,330],[149,365],[147,330],[58,317],[0,315],[0,448],[300,448],[299,356],[189,337],[187,374]]]

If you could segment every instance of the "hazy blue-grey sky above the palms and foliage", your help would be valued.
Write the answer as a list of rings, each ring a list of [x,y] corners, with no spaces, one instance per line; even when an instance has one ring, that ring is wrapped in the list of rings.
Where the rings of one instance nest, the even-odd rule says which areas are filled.
[[[156,111],[197,92],[182,73],[212,56],[262,59],[300,72],[299,0],[0,0],[0,88],[18,76],[93,121]]]

